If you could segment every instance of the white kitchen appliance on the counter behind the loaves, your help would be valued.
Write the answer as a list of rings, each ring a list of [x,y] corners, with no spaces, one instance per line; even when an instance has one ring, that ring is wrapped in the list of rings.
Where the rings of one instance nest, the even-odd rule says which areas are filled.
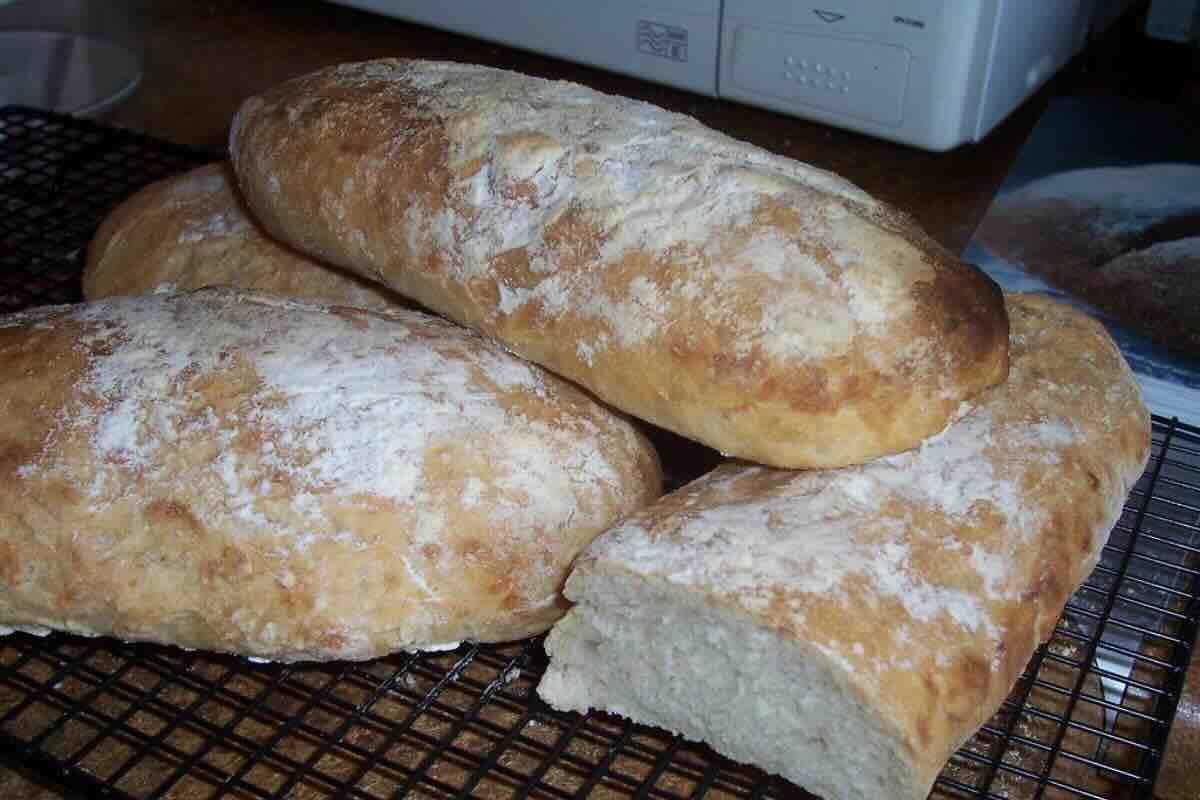
[[[982,139],[1079,52],[1097,2],[334,1],[928,150]]]

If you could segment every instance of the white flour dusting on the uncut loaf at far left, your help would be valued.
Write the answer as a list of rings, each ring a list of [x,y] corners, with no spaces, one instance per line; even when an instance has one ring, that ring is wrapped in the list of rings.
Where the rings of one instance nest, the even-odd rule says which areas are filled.
[[[590,513],[575,506],[581,486],[620,485],[617,465],[588,437],[600,431],[595,420],[552,426],[498,402],[506,392],[552,397],[536,367],[425,315],[346,319],[217,289],[78,306],[65,319],[88,331],[79,347],[92,355],[79,390],[91,399],[60,419],[50,440],[90,439],[98,468],[79,489],[96,510],[122,501],[120,487],[137,475],[167,491],[191,482],[192,512],[206,525],[248,536],[300,521],[301,549],[313,537],[349,535],[328,516],[326,498],[420,509],[414,541],[436,542],[445,533],[436,507],[445,486],[425,471],[431,449],[500,434],[511,446],[488,451],[496,482],[467,476],[461,499],[499,492],[494,513],[511,530]],[[214,408],[196,381],[217,378],[250,384],[217,398],[232,405]],[[164,446],[211,446],[214,456],[196,474],[175,475],[179,456]],[[60,468],[43,455],[20,474]],[[205,486],[212,497],[197,488]]]

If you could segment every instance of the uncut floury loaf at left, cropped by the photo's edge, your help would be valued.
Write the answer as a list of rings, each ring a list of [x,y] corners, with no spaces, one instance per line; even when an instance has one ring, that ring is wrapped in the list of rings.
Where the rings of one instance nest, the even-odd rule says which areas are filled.
[[[277,661],[544,631],[659,493],[625,417],[478,335],[202,289],[0,318],[0,625]]]

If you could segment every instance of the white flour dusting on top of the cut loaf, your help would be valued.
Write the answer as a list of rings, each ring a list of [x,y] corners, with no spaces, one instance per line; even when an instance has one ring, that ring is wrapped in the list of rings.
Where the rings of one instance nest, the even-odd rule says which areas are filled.
[[[1010,391],[1027,391],[1031,374],[1014,369]],[[978,408],[965,405],[917,450],[864,465],[786,480],[761,467],[727,465],[682,489],[686,511],[649,529],[635,516],[592,552],[756,614],[782,599],[798,619],[810,602],[840,596],[858,578],[872,596],[899,603],[912,624],[944,619],[998,637],[989,604],[1020,596],[1013,554],[1045,524],[1027,497],[1027,469],[1055,463],[1081,437],[1066,409],[1026,417],[997,411],[1003,391]],[[781,477],[769,489],[745,495],[738,488],[772,475]],[[1002,534],[972,539],[977,530]],[[914,559],[938,552],[971,578],[932,582]]]

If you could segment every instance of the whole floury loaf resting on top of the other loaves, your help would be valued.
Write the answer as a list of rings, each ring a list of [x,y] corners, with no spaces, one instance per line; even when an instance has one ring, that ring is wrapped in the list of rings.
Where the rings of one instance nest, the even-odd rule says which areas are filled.
[[[250,98],[230,154],[272,235],[742,458],[899,452],[1006,374],[979,271],[845,180],[647,103],[380,60]]]

